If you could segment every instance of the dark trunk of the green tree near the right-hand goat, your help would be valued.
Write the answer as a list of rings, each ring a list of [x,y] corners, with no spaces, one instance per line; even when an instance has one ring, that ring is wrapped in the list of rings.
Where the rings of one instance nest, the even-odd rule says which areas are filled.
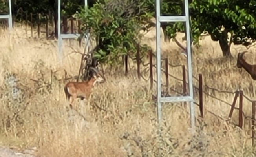
[[[225,57],[232,57],[231,52],[230,52],[230,45],[232,39],[230,39],[230,43],[228,43],[228,31],[224,30],[221,33],[221,36],[219,38],[219,46],[221,47],[221,51],[223,56]]]

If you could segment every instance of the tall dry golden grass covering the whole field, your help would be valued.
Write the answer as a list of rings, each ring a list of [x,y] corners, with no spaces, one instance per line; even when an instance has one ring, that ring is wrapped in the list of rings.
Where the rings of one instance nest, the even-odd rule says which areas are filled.
[[[78,112],[66,108],[65,82],[61,80],[64,69],[68,75],[77,74],[80,55],[70,54],[72,50],[69,46],[79,49],[78,43],[64,43],[65,58],[62,63],[57,55],[56,41],[27,38],[20,27],[12,32],[0,30],[0,36],[0,145],[17,149],[37,146],[37,155],[47,157],[208,157],[217,154],[247,157],[254,153],[249,139],[249,125],[240,130],[208,113],[206,110],[227,119],[230,107],[207,95],[204,95],[204,122],[197,121],[194,137],[191,137],[189,130],[189,109],[177,103],[163,105],[165,126],[157,138],[157,114],[152,100],[155,89],[149,90],[149,81],[136,79],[135,64],[132,62],[128,77],[124,77],[120,68],[115,75],[106,75],[108,81],[95,87],[85,105],[86,114],[81,117],[80,100],[75,106]],[[152,37],[154,30],[143,41],[155,49],[155,41],[150,40]],[[218,43],[212,42],[209,37],[201,44],[202,47],[193,55],[194,76],[202,73],[204,83],[212,88],[235,91],[240,87],[245,95],[255,97],[252,79],[235,67],[236,58],[222,58]],[[171,64],[185,64],[185,58],[174,43],[163,42],[162,49],[163,57],[170,58]],[[232,46],[232,54],[236,56],[242,49],[245,48]],[[249,55],[245,56],[252,58]],[[51,70],[57,71],[53,77]],[[169,73],[182,78],[181,67],[170,67]],[[143,72],[143,75],[148,73]],[[12,78],[18,80],[16,84],[11,81]],[[182,91],[180,81],[169,81],[172,89]],[[194,84],[197,86],[198,82],[194,80]],[[20,93],[13,91],[15,88]],[[18,99],[13,93],[18,93]],[[197,95],[195,91],[196,100]],[[214,95],[229,103],[234,97],[225,93]],[[104,111],[95,108],[96,105]],[[246,115],[251,115],[251,104],[247,101],[244,102],[244,110]],[[198,107],[196,112],[198,115]],[[237,115],[235,111],[232,117],[236,124]]]

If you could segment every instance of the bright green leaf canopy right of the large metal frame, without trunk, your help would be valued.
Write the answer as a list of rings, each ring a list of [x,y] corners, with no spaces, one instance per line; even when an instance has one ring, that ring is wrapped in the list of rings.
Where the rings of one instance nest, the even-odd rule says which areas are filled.
[[[225,33],[223,26],[226,32],[234,32],[234,44],[247,45],[246,38],[256,38],[255,7],[255,0],[194,0],[190,4],[192,27],[199,33],[208,31],[212,40],[218,41]]]

